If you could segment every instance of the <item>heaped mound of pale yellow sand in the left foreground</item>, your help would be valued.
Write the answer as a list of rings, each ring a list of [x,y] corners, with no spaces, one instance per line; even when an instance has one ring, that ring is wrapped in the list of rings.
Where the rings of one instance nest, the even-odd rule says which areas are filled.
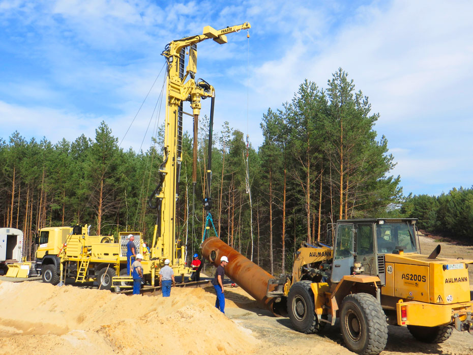
[[[172,288],[162,298],[2,282],[0,353],[254,352],[259,341],[214,303],[215,295],[200,288]]]

